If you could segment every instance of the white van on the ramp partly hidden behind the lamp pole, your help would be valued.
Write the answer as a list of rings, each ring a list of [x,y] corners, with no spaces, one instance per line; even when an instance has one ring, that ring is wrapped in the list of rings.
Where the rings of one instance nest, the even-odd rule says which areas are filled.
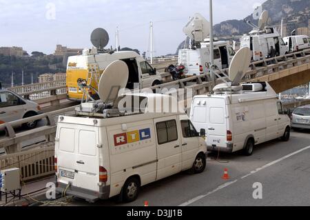
[[[229,68],[235,51],[228,41],[214,42],[214,64],[220,69]],[[210,43],[201,42],[200,48],[183,49],[178,51],[178,65],[185,66],[187,77],[199,75],[209,71]]]

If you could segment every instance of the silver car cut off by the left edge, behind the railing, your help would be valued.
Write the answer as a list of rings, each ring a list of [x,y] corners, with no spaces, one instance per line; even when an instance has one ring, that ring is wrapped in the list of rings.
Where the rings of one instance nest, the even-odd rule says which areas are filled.
[[[41,114],[40,110],[37,103],[24,99],[10,90],[0,90],[0,124]],[[30,121],[22,126],[32,129],[37,127],[37,123],[38,121]]]

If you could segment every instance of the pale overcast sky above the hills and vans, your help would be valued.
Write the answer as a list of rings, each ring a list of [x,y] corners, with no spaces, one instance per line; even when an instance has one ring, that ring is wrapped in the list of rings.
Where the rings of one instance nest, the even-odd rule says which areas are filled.
[[[243,19],[265,0],[214,0],[214,24]],[[176,52],[183,26],[200,12],[209,20],[207,0],[0,0],[0,46],[21,46],[28,53],[51,54],[56,44],[90,48],[90,33],[105,28],[115,47],[116,26],[122,47],[149,50],[154,21],[156,55]]]

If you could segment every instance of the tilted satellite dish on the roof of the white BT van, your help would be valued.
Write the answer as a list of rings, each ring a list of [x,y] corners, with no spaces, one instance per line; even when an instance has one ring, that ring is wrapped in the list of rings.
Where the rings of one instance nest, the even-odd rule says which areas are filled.
[[[245,77],[245,73],[251,63],[251,50],[249,48],[241,48],[235,54],[229,67],[229,79],[232,86],[238,86],[240,80]]]

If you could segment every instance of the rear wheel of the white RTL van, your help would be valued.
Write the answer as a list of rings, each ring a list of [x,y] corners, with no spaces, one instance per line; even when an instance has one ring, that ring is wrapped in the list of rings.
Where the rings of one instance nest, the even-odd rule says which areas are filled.
[[[130,177],[127,179],[123,186],[123,202],[130,203],[132,201],[135,201],[138,197],[138,193],[140,190],[140,182],[136,177]]]

